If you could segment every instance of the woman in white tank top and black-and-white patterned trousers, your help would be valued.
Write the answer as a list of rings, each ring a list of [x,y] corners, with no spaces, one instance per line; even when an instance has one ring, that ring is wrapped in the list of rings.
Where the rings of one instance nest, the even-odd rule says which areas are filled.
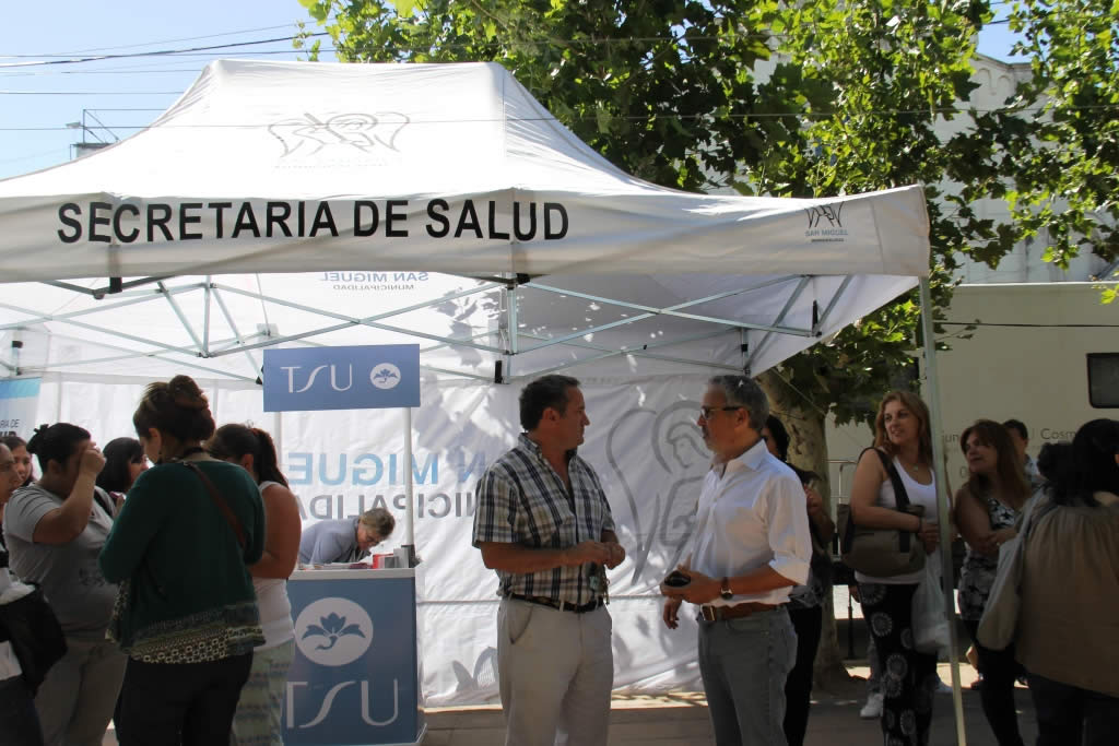
[[[893,483],[882,460],[869,448],[855,469],[850,514],[859,526],[910,531],[924,544],[925,561],[939,561],[937,485],[932,473],[929,408],[916,395],[891,391],[878,406],[874,447],[897,470],[910,503],[924,508],[918,517],[894,510]],[[937,691],[937,657],[913,648],[913,594],[924,573],[872,577],[856,574],[863,616],[874,638],[882,671],[882,733],[890,744],[925,744]]]

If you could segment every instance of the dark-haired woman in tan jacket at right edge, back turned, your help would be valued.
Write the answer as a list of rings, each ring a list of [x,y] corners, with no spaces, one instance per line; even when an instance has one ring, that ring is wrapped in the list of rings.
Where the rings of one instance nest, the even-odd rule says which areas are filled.
[[[1071,460],[1046,472],[1023,539],[1015,648],[1038,746],[1103,746],[1119,734],[1119,422],[1083,425]]]

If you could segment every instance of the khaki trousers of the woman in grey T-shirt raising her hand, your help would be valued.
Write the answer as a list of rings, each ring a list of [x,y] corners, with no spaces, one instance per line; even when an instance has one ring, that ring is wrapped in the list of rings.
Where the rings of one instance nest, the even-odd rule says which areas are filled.
[[[46,746],[101,746],[128,660],[115,642],[66,638],[35,697]]]

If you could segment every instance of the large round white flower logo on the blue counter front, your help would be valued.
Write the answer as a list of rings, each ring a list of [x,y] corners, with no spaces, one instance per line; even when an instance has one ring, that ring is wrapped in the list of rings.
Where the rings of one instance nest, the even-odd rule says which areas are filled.
[[[373,621],[348,598],[320,598],[295,620],[295,644],[320,665],[347,665],[365,655],[373,643]]]

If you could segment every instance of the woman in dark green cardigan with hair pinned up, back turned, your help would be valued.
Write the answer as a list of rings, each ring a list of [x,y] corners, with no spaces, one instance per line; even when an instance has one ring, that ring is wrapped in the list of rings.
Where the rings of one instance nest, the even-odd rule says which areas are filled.
[[[157,465],[129,490],[101,553],[105,578],[121,583],[110,634],[129,654],[117,739],[227,744],[264,642],[247,569],[264,548],[260,491],[203,450],[214,416],[188,376],[148,386],[132,424]]]

